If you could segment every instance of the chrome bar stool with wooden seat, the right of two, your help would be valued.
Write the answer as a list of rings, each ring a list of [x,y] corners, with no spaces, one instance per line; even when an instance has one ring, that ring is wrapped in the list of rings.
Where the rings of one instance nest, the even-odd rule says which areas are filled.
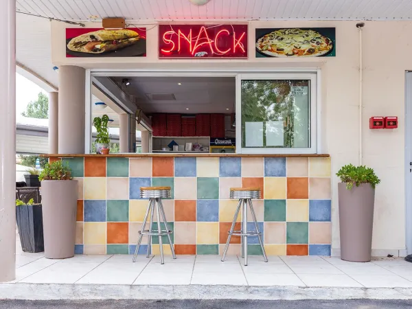
[[[238,207],[235,211],[235,216],[233,217],[233,222],[228,232],[226,247],[223,251],[222,262],[225,262],[225,257],[227,249],[229,249],[229,243],[232,235],[242,237],[242,258],[244,258],[244,265],[247,266],[247,238],[251,236],[258,236],[260,247],[262,248],[264,262],[268,262],[266,256],[266,251],[264,251],[264,246],[262,242],[262,233],[259,231],[258,220],[256,220],[255,209],[253,209],[252,199],[260,198],[260,189],[251,187],[231,187],[230,188],[230,198],[239,198]],[[253,223],[255,224],[255,231],[247,230],[247,206],[251,209],[251,215],[253,218]],[[239,211],[242,209],[242,228],[240,231],[234,231],[236,225],[236,219],[238,218]]]

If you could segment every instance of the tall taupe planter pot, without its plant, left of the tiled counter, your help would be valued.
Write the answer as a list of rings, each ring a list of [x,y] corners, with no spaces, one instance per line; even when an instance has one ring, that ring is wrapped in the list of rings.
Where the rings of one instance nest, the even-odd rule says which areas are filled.
[[[74,256],[78,181],[42,181],[45,258]]]

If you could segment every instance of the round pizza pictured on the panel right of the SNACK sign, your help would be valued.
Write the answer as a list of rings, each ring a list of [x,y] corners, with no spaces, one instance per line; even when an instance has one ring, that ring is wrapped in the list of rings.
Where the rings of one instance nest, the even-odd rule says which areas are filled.
[[[279,29],[259,38],[256,48],[273,57],[318,57],[330,52],[333,42],[314,30]]]

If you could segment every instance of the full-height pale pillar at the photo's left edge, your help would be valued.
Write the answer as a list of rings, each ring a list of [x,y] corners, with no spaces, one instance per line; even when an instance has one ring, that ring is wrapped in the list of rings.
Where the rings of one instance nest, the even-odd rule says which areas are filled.
[[[16,1],[0,10],[0,282],[16,278]]]

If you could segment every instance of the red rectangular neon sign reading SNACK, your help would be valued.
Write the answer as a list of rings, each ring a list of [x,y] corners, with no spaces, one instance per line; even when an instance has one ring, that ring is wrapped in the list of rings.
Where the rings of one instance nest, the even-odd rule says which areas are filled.
[[[159,25],[160,58],[247,58],[247,25]]]

